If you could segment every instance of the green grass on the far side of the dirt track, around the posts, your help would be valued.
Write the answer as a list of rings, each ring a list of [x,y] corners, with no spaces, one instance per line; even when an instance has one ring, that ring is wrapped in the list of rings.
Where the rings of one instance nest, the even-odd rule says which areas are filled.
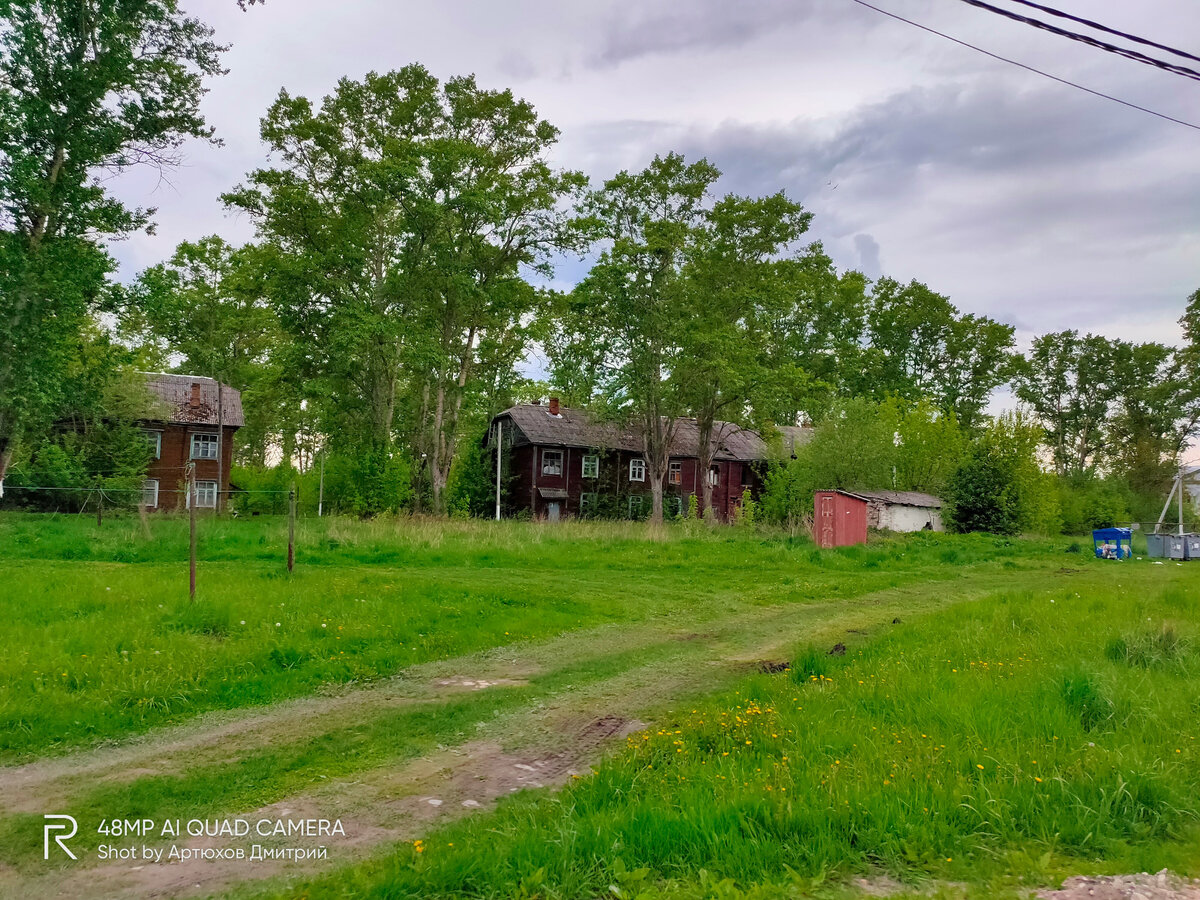
[[[187,523],[0,516],[0,763],[211,709],[371,682],[428,660],[696,606],[859,596],[968,570],[1038,569],[1064,544],[913,535],[818,551],[750,529],[641,524]]]

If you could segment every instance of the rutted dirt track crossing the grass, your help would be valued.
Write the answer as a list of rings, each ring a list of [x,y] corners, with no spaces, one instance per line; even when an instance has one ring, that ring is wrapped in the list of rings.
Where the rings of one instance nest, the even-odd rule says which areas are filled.
[[[1044,575],[1042,576],[1045,577]],[[397,678],[331,696],[278,703],[265,709],[202,716],[115,746],[59,760],[0,769],[0,809],[6,815],[70,810],[72,797],[97,782],[143,778],[235,763],[268,744],[311,740],[332,727],[368,721],[398,707],[427,708],[464,692],[488,692],[533,682],[528,702],[478,724],[478,734],[414,760],[398,760],[318,780],[257,810],[229,809],[228,817],[340,818],[344,838],[323,841],[329,859],[185,860],[158,864],[80,858],[54,865],[26,860],[0,868],[0,896],[145,898],[220,893],[247,880],[299,875],[413,840],[451,816],[485,809],[524,788],[552,787],[586,774],[610,742],[654,721],[671,706],[718,690],[779,660],[800,641],[862,640],[942,606],[1013,587],[1013,575],[994,574],[954,583],[924,584],[827,604],[689,611],[620,626],[570,632],[527,646],[413,667]],[[599,677],[581,674],[565,686],[540,690],[539,677],[594,664]],[[558,684],[558,683],[556,683]],[[114,815],[120,815],[114,812]],[[187,811],[181,811],[186,818]],[[206,816],[210,817],[210,816]],[[40,836],[40,835],[38,835]],[[294,842],[294,841],[293,841]],[[188,839],[180,846],[228,844]],[[269,841],[263,841],[269,844]],[[53,868],[50,868],[53,866]]]

